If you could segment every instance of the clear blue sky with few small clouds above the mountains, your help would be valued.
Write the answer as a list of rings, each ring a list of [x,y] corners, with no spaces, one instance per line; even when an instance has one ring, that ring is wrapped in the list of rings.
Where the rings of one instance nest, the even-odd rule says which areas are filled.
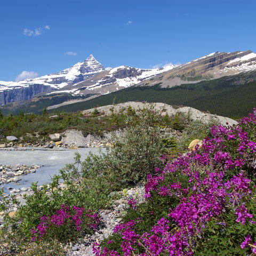
[[[91,53],[105,67],[153,68],[255,52],[255,10],[254,0],[0,0],[0,81],[54,73]]]

